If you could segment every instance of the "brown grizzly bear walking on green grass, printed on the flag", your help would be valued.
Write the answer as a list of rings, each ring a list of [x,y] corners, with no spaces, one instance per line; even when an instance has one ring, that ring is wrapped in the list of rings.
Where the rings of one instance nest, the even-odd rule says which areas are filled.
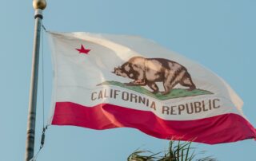
[[[189,90],[196,88],[184,66],[163,58],[132,57],[121,67],[114,68],[112,73],[134,80],[126,85],[148,85],[153,93],[159,92],[156,82],[162,82],[165,89],[163,95],[168,94],[176,84],[189,87]]]

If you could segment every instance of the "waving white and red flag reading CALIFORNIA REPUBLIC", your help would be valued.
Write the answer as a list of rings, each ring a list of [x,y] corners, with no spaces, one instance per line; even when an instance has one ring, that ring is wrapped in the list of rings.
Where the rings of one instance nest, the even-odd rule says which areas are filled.
[[[256,138],[242,100],[222,78],[154,41],[49,33],[52,125],[137,128],[161,139],[227,143]]]

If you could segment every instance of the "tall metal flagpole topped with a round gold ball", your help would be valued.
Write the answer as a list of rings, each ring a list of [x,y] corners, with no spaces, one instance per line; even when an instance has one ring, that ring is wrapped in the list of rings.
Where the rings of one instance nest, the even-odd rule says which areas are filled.
[[[32,55],[32,68],[30,77],[30,100],[27,119],[26,133],[26,153],[25,160],[29,161],[34,156],[34,133],[36,120],[36,105],[38,92],[38,64],[39,64],[39,48],[40,48],[40,33],[42,25],[42,10],[46,8],[46,0],[34,0],[34,47]]]

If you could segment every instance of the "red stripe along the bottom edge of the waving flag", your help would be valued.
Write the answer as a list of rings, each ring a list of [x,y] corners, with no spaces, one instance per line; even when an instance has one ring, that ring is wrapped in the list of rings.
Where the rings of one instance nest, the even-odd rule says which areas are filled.
[[[230,113],[199,120],[162,120],[152,112],[113,104],[86,107],[71,102],[57,102],[52,124],[98,130],[137,128],[161,139],[194,139],[195,142],[210,144],[256,139],[254,127],[237,114]]]

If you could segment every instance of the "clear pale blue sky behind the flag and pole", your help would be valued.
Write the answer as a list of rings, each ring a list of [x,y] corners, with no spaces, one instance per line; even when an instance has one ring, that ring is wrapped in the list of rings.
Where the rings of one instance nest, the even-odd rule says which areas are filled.
[[[244,100],[243,112],[256,126],[256,2],[254,0],[48,1],[43,24],[54,31],[133,34],[153,39],[224,78]],[[34,36],[32,1],[2,1],[0,10],[0,160],[24,159]],[[46,117],[51,96],[50,49],[44,34]],[[40,69],[42,71],[42,69]],[[36,150],[42,132],[42,73],[38,86]],[[46,132],[38,160],[126,160],[138,147],[162,151],[168,141],[136,129],[94,131],[55,127]],[[194,143],[219,160],[254,160],[256,142]]]

